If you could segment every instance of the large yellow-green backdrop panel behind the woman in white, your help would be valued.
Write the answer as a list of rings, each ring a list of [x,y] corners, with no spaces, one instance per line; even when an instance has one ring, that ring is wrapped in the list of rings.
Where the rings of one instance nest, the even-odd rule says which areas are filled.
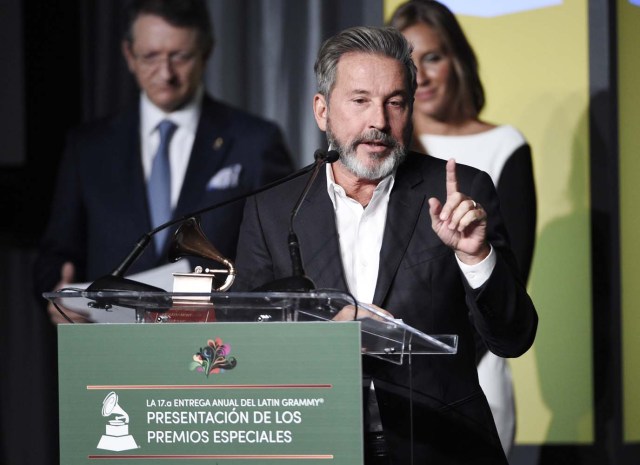
[[[387,18],[400,3],[386,0]],[[587,2],[459,19],[481,65],[483,119],[518,127],[533,149],[538,238],[529,289],[540,326],[534,348],[511,363],[516,442],[591,443]]]

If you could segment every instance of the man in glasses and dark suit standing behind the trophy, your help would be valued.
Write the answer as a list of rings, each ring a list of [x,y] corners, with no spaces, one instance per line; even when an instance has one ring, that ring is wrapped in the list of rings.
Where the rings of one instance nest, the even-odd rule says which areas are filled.
[[[108,274],[152,229],[146,179],[158,123],[178,125],[170,145],[173,217],[248,193],[293,171],[280,129],[203,91],[213,32],[204,0],[135,0],[122,50],[140,99],[70,133],[36,264],[36,291]],[[202,215],[208,239],[236,253],[243,202]],[[168,242],[168,241],[167,241]],[[165,246],[166,248],[166,246]],[[147,247],[130,272],[165,263]],[[62,278],[62,279],[61,279]],[[52,313],[58,319],[57,312]]]

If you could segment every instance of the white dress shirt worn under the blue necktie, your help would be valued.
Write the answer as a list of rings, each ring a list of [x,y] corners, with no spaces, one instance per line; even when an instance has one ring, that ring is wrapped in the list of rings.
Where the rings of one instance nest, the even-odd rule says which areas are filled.
[[[197,90],[193,100],[183,108],[172,113],[165,113],[156,107],[144,92],[140,97],[140,147],[142,148],[142,168],[145,180],[151,175],[153,157],[160,145],[158,124],[165,119],[177,125],[169,144],[169,163],[171,165],[171,207],[175,208],[180,198],[184,176],[189,165],[193,141],[198,129],[202,98],[202,86]]]

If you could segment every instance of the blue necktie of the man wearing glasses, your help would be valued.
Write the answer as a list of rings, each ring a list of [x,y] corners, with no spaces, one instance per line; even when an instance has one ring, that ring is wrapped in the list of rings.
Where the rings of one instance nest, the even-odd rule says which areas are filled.
[[[171,219],[171,166],[169,164],[169,143],[177,126],[169,120],[158,125],[160,145],[151,165],[151,176],[147,183],[147,195],[151,209],[151,226],[156,228]],[[156,252],[162,248],[169,234],[168,229],[158,231],[154,236]]]

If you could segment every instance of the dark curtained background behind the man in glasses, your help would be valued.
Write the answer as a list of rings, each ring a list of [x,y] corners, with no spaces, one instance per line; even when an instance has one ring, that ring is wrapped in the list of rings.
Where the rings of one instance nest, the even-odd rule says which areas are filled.
[[[120,51],[125,4],[0,6],[2,464],[58,462],[56,334],[31,275],[65,134],[138,95]],[[277,121],[298,164],[306,164],[322,143],[310,112],[315,52],[345,27],[381,24],[381,1],[211,0],[209,6],[217,46],[207,90]]]

